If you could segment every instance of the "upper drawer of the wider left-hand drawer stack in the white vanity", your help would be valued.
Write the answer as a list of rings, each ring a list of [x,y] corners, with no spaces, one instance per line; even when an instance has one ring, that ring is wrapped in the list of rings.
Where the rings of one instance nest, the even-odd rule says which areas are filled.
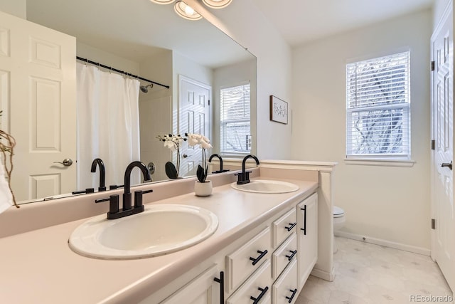
[[[270,228],[262,230],[242,247],[226,256],[228,290],[237,288],[270,256]],[[272,271],[269,273],[272,278]]]

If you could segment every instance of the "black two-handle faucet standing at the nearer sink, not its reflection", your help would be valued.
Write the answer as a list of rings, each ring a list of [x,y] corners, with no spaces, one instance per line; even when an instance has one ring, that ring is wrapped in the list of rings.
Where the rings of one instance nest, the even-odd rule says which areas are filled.
[[[134,207],[131,204],[131,172],[134,167],[141,169],[142,174],[144,175],[144,182],[149,181],[150,173],[149,170],[145,167],[145,164],[142,162],[136,161],[128,165],[125,170],[124,176],[124,194],[123,194],[123,208],[119,210],[119,194],[114,194],[109,196],[109,199],[97,199],[95,203],[100,203],[102,201],[109,201],[109,212],[107,212],[107,219],[119,219],[124,216],[129,216],[132,214],[138,214],[144,211],[144,204],[142,204],[142,194],[153,192],[153,190],[147,191],[135,191],[134,192]]]

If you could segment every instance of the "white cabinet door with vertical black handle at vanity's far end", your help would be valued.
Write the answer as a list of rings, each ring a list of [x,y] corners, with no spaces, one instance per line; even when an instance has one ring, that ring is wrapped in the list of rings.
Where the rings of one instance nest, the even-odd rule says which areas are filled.
[[[297,261],[299,290],[318,260],[318,194],[297,205]]]

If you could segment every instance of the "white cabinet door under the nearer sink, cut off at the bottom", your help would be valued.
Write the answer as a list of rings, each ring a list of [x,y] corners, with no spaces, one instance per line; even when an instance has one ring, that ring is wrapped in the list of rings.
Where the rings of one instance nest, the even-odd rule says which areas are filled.
[[[220,303],[220,284],[215,282],[215,278],[219,276],[218,266],[214,265],[161,303],[218,304]]]

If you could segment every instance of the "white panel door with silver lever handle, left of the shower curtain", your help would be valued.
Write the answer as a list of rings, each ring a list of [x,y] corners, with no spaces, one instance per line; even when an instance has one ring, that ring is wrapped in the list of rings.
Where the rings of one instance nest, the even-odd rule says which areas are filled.
[[[16,139],[17,201],[75,190],[75,38],[0,12],[1,127]]]

